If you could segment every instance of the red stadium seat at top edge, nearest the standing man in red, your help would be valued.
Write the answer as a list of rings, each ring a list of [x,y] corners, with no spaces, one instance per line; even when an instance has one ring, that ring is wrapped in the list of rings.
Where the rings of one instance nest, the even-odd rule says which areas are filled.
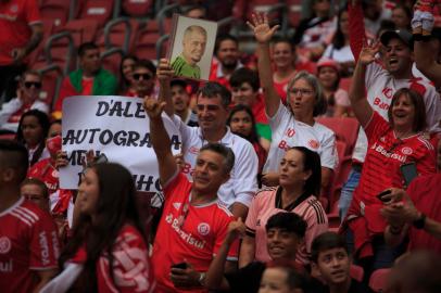
[[[42,20],[50,20],[53,23],[54,30],[60,30],[73,15],[72,5],[75,1],[66,0],[41,0],[39,4]]]

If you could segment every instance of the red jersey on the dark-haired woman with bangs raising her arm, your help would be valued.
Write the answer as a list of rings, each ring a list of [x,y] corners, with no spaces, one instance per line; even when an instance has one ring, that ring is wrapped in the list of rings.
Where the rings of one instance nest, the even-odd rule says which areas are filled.
[[[382,232],[386,228],[386,221],[379,214],[382,202],[376,195],[390,187],[403,188],[402,164],[415,162],[418,175],[434,174],[436,152],[421,133],[396,138],[389,123],[377,112],[374,112],[365,131],[368,150],[350,214],[365,215],[369,231]]]

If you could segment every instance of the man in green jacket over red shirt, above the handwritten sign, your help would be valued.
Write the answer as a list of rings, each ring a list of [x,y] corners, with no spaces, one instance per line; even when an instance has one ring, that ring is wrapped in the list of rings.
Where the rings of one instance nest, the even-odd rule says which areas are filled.
[[[101,67],[100,50],[93,42],[78,48],[79,69],[66,76],[61,85],[53,117],[61,119],[63,100],[71,95],[109,95],[116,93],[117,80]]]

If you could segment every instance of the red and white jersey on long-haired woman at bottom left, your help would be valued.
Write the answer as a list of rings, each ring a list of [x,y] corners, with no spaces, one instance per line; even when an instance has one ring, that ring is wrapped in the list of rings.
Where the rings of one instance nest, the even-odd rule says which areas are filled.
[[[125,225],[121,229],[112,254],[114,280],[110,275],[106,255],[102,255],[97,263],[98,292],[154,292],[155,281],[149,262],[149,250],[135,227]],[[86,250],[81,247],[71,262],[83,264],[86,259]]]

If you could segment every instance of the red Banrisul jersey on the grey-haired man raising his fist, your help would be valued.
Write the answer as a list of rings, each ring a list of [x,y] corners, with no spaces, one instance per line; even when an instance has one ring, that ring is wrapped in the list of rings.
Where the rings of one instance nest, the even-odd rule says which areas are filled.
[[[156,292],[206,292],[176,289],[169,280],[171,266],[186,262],[197,271],[207,271],[232,220],[231,213],[217,201],[191,205],[191,183],[180,173],[167,183],[164,194],[164,211],[152,254]],[[238,242],[235,242],[228,259],[236,260],[237,255]]]

